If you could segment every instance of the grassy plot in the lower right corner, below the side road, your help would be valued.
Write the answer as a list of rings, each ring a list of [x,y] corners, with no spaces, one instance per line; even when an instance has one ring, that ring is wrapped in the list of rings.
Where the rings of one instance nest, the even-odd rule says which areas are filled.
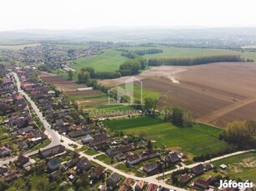
[[[220,164],[226,164],[228,168],[221,170]],[[238,154],[226,159],[213,162],[218,170],[228,175],[231,179],[249,179],[256,182],[256,153]]]

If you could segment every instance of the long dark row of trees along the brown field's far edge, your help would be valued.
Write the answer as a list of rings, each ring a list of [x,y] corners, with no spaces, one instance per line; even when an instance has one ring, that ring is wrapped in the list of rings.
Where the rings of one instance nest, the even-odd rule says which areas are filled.
[[[221,61],[242,61],[242,59],[239,55],[233,54],[180,58],[151,58],[148,60],[148,66],[193,66]]]

